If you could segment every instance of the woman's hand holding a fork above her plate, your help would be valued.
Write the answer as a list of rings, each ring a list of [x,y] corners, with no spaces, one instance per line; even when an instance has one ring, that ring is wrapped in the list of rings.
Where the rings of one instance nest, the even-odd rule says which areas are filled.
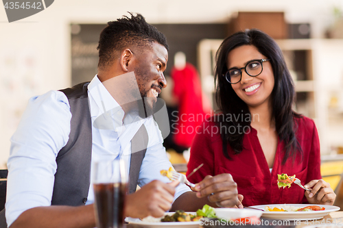
[[[305,191],[305,197],[309,203],[333,205],[335,202],[335,192],[323,179],[309,181],[304,187],[311,189],[311,191]]]

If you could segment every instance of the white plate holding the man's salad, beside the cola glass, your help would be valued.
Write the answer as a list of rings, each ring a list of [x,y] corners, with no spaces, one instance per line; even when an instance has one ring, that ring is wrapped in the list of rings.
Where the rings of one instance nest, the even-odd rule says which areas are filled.
[[[187,214],[196,214],[196,212],[186,212]],[[165,215],[171,215],[174,212],[167,212]],[[163,218],[163,217],[162,217]],[[161,219],[160,219],[161,220]],[[163,227],[163,228],[198,228],[200,225],[200,221],[196,222],[143,222],[139,218],[125,218],[126,223],[132,223],[136,225],[141,225],[142,227],[147,228],[156,228],[156,227]]]

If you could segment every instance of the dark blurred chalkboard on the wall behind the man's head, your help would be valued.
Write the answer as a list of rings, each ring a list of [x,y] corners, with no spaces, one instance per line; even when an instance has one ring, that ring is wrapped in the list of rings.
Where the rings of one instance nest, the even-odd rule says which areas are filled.
[[[187,62],[197,66],[197,45],[202,39],[224,39],[228,26],[217,24],[154,24],[167,37],[169,60],[165,75],[174,65],[178,51],[186,54]],[[71,84],[90,81],[97,73],[99,34],[106,24],[71,25]]]

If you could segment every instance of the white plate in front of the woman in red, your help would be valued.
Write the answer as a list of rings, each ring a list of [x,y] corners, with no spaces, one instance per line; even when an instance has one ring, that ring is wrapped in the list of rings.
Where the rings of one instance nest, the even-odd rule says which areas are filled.
[[[269,205],[257,205],[251,206],[252,208],[257,208],[264,210],[265,206],[269,207],[283,207],[283,206],[293,206],[293,207],[307,207],[314,204],[269,204]],[[283,220],[314,220],[321,219],[330,212],[335,212],[340,210],[340,207],[331,206],[331,205],[318,205],[320,207],[325,207],[323,211],[316,212],[263,212],[263,218],[274,218],[274,219],[283,219]]]

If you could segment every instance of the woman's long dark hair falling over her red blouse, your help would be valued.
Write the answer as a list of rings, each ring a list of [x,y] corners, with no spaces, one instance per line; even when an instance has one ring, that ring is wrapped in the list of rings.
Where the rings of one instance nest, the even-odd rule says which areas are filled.
[[[216,122],[220,127],[225,127],[225,129],[229,129],[232,126],[235,129],[238,129],[239,126],[241,126],[241,129],[244,129],[246,126],[250,127],[251,115],[248,105],[237,96],[231,84],[223,77],[226,71],[228,71],[228,53],[242,45],[257,47],[259,52],[270,59],[272,64],[274,73],[274,89],[271,94],[272,116],[274,116],[279,140],[285,142],[284,164],[289,156],[295,157],[296,153],[303,153],[295,136],[296,126],[294,124],[294,118],[301,118],[301,116],[292,110],[295,101],[294,81],[285,64],[283,53],[279,45],[263,31],[258,29],[239,31],[226,38],[222,45],[220,45],[216,55],[215,96],[217,105],[224,115],[219,115],[221,117]],[[239,115],[250,116],[250,121],[246,121],[243,118],[235,119],[235,121],[226,121],[225,116]],[[230,159],[230,155],[228,154],[227,143],[230,144],[235,154],[241,153],[244,147],[244,134],[239,134],[239,131],[235,131],[234,134],[229,134],[228,131],[221,131],[221,136],[223,153],[228,159]]]

